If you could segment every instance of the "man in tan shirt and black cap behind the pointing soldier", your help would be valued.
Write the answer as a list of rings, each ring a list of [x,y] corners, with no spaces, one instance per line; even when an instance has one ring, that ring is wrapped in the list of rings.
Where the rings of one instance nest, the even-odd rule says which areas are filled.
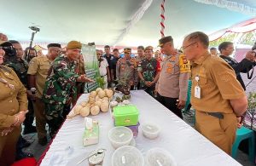
[[[45,130],[46,119],[44,116],[44,102],[42,101],[42,94],[50,64],[55,60],[55,57],[61,53],[61,44],[49,43],[47,48],[48,54],[33,58],[29,63],[27,71],[29,87],[37,89],[36,99],[33,101],[33,107],[35,109],[36,127],[38,130],[38,143],[42,146],[47,144],[47,132]]]

